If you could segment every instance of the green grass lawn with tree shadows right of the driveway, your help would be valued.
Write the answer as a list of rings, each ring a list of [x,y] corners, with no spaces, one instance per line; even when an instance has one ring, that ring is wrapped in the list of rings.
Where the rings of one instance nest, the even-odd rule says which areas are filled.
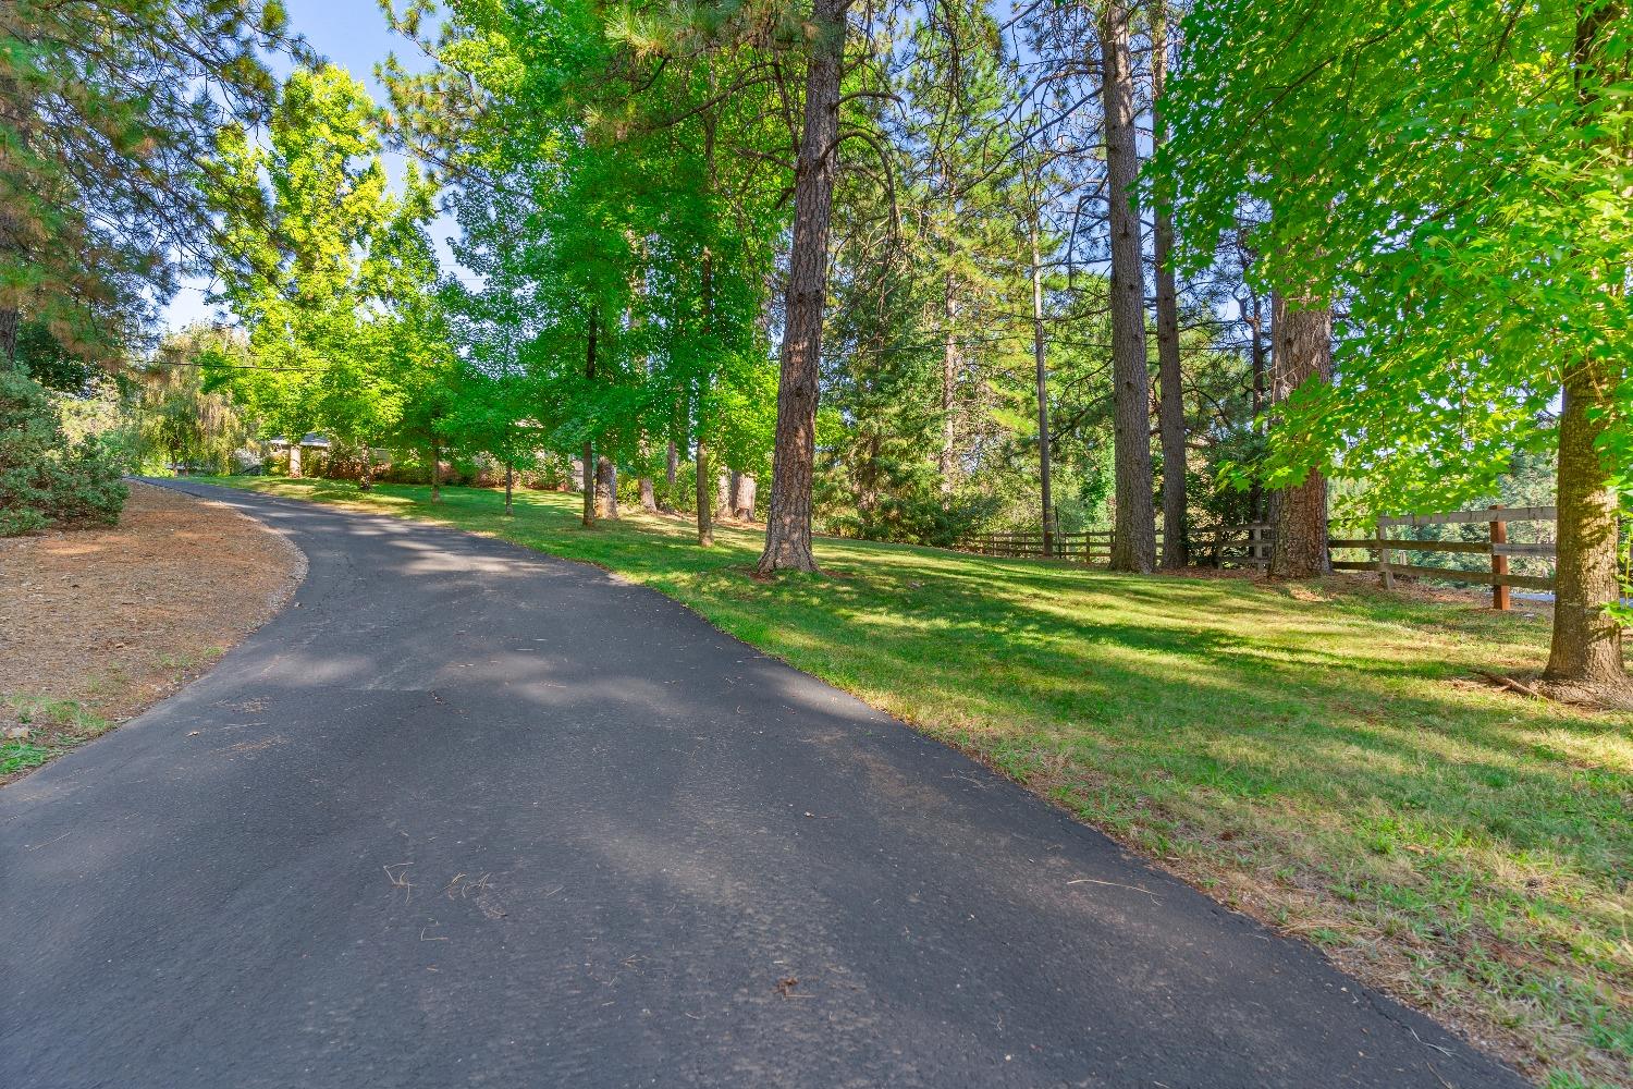
[[[1360,580],[1119,576],[578,524],[578,498],[222,480],[590,560],[986,761],[1550,1086],[1633,1081],[1633,718],[1497,692],[1546,617]]]

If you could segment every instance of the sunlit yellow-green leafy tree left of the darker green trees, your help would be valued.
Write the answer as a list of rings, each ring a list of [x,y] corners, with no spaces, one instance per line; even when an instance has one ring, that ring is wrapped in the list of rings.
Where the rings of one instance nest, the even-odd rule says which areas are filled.
[[[438,431],[452,372],[433,189],[410,173],[387,193],[374,114],[345,70],[297,69],[265,145],[222,136],[220,299],[248,327],[250,359],[206,367],[268,438],[320,431],[364,464],[376,442]]]

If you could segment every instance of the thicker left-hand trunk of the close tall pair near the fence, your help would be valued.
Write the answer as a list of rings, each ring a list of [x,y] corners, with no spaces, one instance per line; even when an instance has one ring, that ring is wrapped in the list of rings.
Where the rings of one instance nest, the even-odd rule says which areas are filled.
[[[1114,571],[1156,567],[1151,500],[1151,372],[1145,348],[1145,263],[1135,178],[1133,70],[1128,5],[1106,0],[1101,20],[1101,90],[1106,104],[1106,180],[1110,214],[1112,411],[1115,421],[1117,516]]]

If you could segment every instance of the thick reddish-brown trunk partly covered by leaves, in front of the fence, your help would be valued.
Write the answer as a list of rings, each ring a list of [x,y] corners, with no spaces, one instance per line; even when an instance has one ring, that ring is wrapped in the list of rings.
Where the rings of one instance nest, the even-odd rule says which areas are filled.
[[[1270,397],[1285,402],[1305,382],[1333,377],[1333,310],[1300,309],[1280,294],[1270,299]],[[1310,470],[1305,482],[1270,496],[1270,578],[1316,578],[1333,573],[1328,555],[1326,477]]]

